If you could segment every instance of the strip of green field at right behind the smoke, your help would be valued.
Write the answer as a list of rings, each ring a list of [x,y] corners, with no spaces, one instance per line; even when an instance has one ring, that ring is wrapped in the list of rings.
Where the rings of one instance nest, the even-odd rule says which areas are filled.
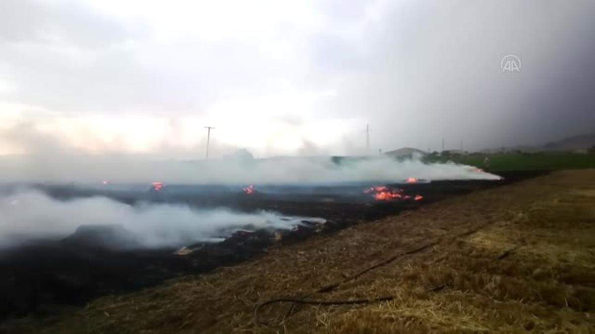
[[[431,157],[431,162],[452,160],[465,165],[483,168],[483,161],[490,158],[490,171],[556,171],[559,169],[595,168],[595,155],[569,152],[471,154],[466,156]]]

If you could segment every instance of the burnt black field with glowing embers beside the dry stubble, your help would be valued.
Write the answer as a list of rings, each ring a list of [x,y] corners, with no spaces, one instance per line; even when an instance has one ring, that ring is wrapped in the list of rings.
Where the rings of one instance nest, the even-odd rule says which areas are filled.
[[[319,217],[326,223],[303,221],[291,231],[237,231],[221,242],[178,248],[114,250],[104,240],[126,240],[127,231],[117,225],[87,226],[61,240],[37,240],[0,251],[0,317],[20,317],[51,311],[56,304],[84,305],[105,294],[136,291],[165,279],[189,273],[205,273],[252,259],[275,243],[299,242],[313,234],[331,234],[355,223],[366,222],[403,210],[414,210],[433,201],[497,187],[541,175],[543,172],[506,172],[500,181],[433,181],[393,184],[403,193],[423,200],[376,201],[362,189],[380,184],[324,186],[255,185],[247,195],[241,187],[223,185],[151,185],[83,187],[81,185],[29,185],[62,201],[105,196],[127,204],[177,203],[191,207],[230,207],[240,212],[268,210],[283,215]],[[16,187],[15,185],[14,187]],[[9,187],[10,188],[10,187]],[[10,189],[9,189],[10,190]],[[85,225],[85,222],[80,222]]]

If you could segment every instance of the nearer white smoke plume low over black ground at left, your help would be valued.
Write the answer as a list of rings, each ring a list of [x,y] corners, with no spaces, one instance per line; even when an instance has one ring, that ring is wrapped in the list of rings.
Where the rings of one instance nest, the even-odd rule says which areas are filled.
[[[171,204],[130,206],[106,197],[59,201],[33,190],[3,195],[0,212],[0,248],[41,238],[64,238],[80,225],[122,225],[142,247],[152,248],[227,237],[234,228],[246,225],[289,229],[303,219]]]

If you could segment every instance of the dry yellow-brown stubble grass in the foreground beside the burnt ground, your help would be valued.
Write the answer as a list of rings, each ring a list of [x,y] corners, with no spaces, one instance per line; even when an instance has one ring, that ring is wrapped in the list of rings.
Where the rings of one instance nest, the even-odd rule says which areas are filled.
[[[595,171],[556,172],[274,248],[260,259],[209,275],[100,298],[43,323],[27,319],[18,328],[56,333],[593,332],[593,204]],[[270,326],[254,321],[258,303],[311,294],[430,241],[439,243],[310,297],[392,295],[393,301],[300,305],[285,319],[290,305],[273,304],[261,314]]]

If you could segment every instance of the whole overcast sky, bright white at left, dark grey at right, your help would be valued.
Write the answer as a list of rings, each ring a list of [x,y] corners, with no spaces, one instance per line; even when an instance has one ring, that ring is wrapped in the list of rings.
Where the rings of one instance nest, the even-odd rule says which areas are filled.
[[[468,150],[595,131],[595,1],[0,1],[0,155]],[[502,71],[515,55],[519,71]]]

